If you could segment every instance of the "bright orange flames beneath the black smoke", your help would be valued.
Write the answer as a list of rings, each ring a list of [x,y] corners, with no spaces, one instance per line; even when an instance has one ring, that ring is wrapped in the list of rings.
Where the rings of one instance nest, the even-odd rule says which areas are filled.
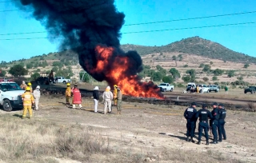
[[[101,73],[104,71],[106,81],[111,85],[118,85],[122,93],[134,97],[155,97],[164,99],[160,89],[153,82],[141,82],[136,75],[127,76],[127,71],[134,66],[133,60],[127,56],[114,55],[114,47],[96,46],[97,64],[94,69],[88,69],[89,73]],[[111,60],[112,59],[112,60]]]

